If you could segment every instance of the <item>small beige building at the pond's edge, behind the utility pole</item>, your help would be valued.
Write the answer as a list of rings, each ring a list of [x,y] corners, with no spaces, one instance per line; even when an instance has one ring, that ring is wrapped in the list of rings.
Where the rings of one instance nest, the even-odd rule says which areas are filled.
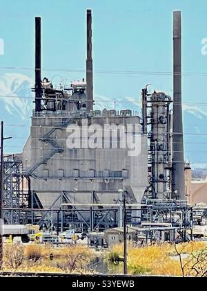
[[[123,227],[115,227],[113,229],[106,229],[104,231],[104,238],[106,239],[106,243],[108,247],[112,247],[112,245],[116,245],[118,243],[124,242],[124,228]],[[137,231],[136,229],[127,230],[127,240],[137,240]]]

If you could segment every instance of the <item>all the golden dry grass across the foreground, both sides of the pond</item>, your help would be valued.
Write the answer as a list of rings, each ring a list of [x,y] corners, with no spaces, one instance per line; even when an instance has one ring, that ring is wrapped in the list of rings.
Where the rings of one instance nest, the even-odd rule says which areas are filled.
[[[204,242],[177,245],[168,243],[137,247],[128,244],[128,272],[166,276],[207,276],[207,249]],[[87,265],[94,253],[83,245],[52,247],[50,245],[6,245],[3,247],[3,269],[23,272],[91,273]],[[55,258],[50,265],[49,256]],[[123,258],[123,245],[110,249],[112,262]],[[122,263],[121,263],[122,264]]]

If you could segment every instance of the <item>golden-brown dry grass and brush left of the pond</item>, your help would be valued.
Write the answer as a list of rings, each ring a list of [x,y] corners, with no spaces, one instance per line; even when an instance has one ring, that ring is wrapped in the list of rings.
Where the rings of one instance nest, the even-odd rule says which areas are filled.
[[[54,266],[50,266],[50,260],[46,260],[49,256],[56,258],[57,261],[54,262]],[[92,258],[92,251],[83,245],[69,245],[66,247],[6,245],[3,247],[3,270],[86,274],[88,273],[86,266]]]

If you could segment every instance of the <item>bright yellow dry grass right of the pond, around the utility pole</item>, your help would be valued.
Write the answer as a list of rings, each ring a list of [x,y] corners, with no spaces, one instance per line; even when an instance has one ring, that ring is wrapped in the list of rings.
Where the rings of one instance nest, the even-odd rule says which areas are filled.
[[[195,270],[191,270],[196,263],[197,254],[206,249],[206,243],[191,242],[176,245],[177,252],[181,252],[181,260],[184,267],[184,274],[181,270],[179,256],[175,246],[170,244],[150,245],[147,247],[133,247],[128,245],[128,271],[130,274],[157,274],[170,276],[189,276],[196,275]],[[184,254],[188,254],[184,258]],[[173,256],[176,256],[173,258]],[[123,257],[123,245],[115,245],[110,251],[111,261],[114,258]],[[195,258],[193,257],[195,256]],[[203,254],[203,264],[207,259],[206,253]],[[207,272],[207,270],[206,270]]]

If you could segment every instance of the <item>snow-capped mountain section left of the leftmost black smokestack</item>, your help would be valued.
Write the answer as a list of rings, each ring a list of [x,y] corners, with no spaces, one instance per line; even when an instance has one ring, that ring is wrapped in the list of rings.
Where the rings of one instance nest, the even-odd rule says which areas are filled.
[[[21,152],[30,132],[32,79],[19,73],[0,75],[0,119],[4,121],[5,152]],[[17,126],[19,125],[19,126]]]

